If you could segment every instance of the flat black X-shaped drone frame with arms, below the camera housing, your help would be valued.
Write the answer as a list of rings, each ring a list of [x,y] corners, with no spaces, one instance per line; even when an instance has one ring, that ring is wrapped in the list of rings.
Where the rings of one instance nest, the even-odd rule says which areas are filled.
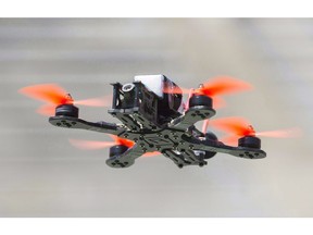
[[[196,101],[195,101],[196,100]],[[51,116],[49,122],[54,126],[65,128],[88,129],[100,133],[108,133],[135,141],[132,148],[114,147],[110,150],[110,158],[107,164],[112,168],[127,168],[135,163],[135,160],[146,152],[159,151],[171,159],[178,168],[186,165],[203,166],[209,159],[208,152],[214,156],[215,152],[228,153],[246,159],[262,159],[266,153],[261,150],[261,140],[256,137],[245,137],[239,139],[239,146],[233,147],[212,138],[209,135],[201,135],[195,127],[195,123],[212,118],[215,110],[205,99],[195,99],[191,107],[180,116],[172,120],[165,125],[156,126],[147,120],[138,108],[113,109],[109,111],[113,116],[120,119],[123,124],[111,124],[107,122],[87,122],[76,116],[76,109],[71,104],[58,107],[57,115]],[[198,102],[198,101],[199,102]],[[208,106],[198,106],[198,104]],[[58,111],[62,112],[58,112]],[[73,115],[73,110],[75,115]],[[78,110],[77,110],[78,115]],[[206,157],[205,157],[206,154]]]

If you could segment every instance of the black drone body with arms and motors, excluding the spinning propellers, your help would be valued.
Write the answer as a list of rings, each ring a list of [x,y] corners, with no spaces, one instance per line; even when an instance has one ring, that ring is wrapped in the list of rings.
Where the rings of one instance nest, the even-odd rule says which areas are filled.
[[[218,141],[213,133],[203,133],[195,123],[208,121],[215,114],[212,98],[201,89],[190,91],[187,106],[184,89],[164,75],[136,76],[130,84],[113,85],[113,102],[109,113],[122,124],[87,122],[78,119],[78,108],[65,101],[55,108],[49,122],[54,126],[79,128],[115,135],[132,141],[111,146],[107,164],[127,168],[147,152],[160,152],[178,168],[203,166],[206,160],[224,152],[247,159],[261,159],[261,140],[251,132],[241,136],[238,147]]]

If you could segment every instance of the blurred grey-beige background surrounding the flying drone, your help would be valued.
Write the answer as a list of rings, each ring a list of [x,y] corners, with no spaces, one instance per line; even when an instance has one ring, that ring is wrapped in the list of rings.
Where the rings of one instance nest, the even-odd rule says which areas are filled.
[[[0,217],[312,217],[312,63],[311,18],[1,18]],[[262,138],[262,160],[218,153],[180,170],[158,156],[111,169],[107,149],[68,144],[107,135],[57,128],[17,94],[58,83],[76,99],[101,97],[143,74],[181,87],[243,79],[254,90],[225,97],[214,118],[303,136]],[[82,107],[80,116],[115,122],[107,111]]]

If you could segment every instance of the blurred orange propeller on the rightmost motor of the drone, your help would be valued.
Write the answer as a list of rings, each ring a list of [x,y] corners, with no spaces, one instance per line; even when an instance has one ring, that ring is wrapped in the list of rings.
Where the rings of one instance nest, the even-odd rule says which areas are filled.
[[[255,132],[246,119],[239,116],[210,120],[210,125],[229,134],[222,140],[229,144],[237,144],[238,138],[243,136],[296,138],[300,137],[302,134],[301,129],[296,127],[268,132]]]

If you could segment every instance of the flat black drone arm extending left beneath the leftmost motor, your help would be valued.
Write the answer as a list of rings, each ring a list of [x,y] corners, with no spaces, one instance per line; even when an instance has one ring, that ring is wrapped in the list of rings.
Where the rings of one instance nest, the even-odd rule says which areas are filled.
[[[87,122],[82,119],[72,118],[72,116],[51,116],[49,122],[59,127],[65,128],[78,128],[78,129],[88,129],[92,132],[107,133],[112,135],[121,135],[126,132],[126,128],[123,125],[117,125],[107,122]]]

